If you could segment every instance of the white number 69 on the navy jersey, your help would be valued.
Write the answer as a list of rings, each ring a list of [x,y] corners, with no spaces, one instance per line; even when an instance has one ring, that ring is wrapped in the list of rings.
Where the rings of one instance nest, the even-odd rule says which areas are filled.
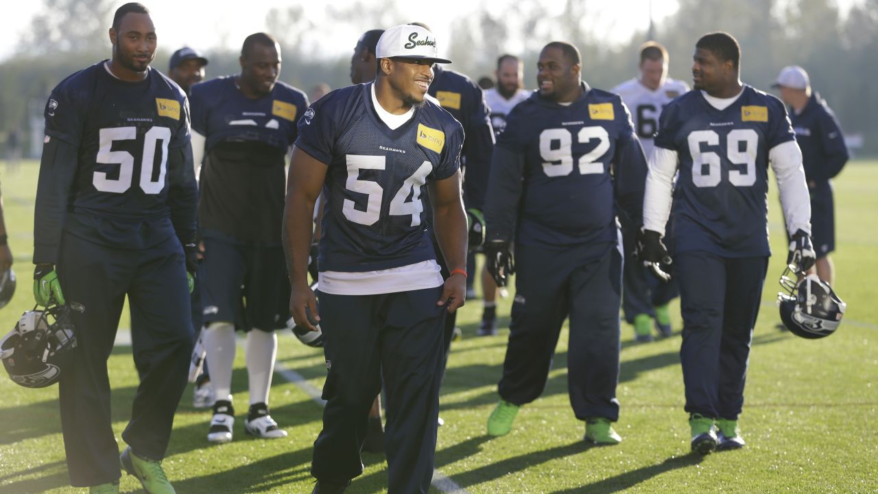
[[[746,164],[747,171],[729,171],[729,182],[736,187],[749,187],[756,183],[756,151],[759,135],[752,128],[736,128],[726,136],[726,156],[732,164]],[[696,187],[716,187],[721,177],[720,157],[713,151],[702,151],[702,144],[719,146],[719,134],[713,130],[696,130],[689,133],[689,154],[692,156],[692,183]],[[744,150],[741,150],[741,144]],[[705,165],[707,165],[705,167]],[[707,172],[705,173],[705,168]]]

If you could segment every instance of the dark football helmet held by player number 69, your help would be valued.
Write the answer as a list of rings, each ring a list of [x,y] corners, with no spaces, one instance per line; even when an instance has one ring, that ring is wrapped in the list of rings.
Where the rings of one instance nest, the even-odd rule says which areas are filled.
[[[783,325],[802,338],[831,335],[838,330],[847,304],[816,274],[796,281],[797,277],[798,272],[790,266],[781,274],[781,287],[785,292],[777,294],[777,298]]]

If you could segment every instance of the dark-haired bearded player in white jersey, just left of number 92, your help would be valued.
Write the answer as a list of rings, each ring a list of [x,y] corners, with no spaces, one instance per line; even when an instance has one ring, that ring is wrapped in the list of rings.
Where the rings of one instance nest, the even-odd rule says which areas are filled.
[[[491,127],[494,138],[499,139],[506,128],[506,116],[525,99],[530,92],[524,89],[524,64],[514,54],[503,54],[497,59],[494,71],[497,84],[485,91],[485,102],[491,109]],[[487,265],[482,268],[482,323],[479,336],[497,334],[497,284],[494,283]],[[505,290],[505,288],[503,288]],[[506,296],[506,295],[504,295]]]

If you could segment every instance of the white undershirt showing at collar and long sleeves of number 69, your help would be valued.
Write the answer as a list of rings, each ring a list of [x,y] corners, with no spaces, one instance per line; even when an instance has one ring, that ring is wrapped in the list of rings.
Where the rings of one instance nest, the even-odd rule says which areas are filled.
[[[714,98],[702,91],[704,99],[717,110],[728,108],[743,93],[742,89],[732,98]],[[795,141],[781,142],[769,149],[768,160],[777,178],[788,231],[802,229],[810,234],[811,204],[802,167],[802,150]],[[677,151],[659,147],[652,150],[644,193],[644,229],[657,231],[662,236],[665,235],[665,225],[671,214],[673,177],[679,164]]]

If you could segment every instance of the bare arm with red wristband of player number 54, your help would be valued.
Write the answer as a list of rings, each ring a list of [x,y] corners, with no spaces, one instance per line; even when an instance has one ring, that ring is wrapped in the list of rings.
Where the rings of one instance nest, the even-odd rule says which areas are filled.
[[[466,245],[468,233],[464,200],[460,194],[460,170],[449,178],[430,182],[430,203],[436,241],[451,275],[445,280],[442,296],[436,305],[454,312],[466,299]]]

